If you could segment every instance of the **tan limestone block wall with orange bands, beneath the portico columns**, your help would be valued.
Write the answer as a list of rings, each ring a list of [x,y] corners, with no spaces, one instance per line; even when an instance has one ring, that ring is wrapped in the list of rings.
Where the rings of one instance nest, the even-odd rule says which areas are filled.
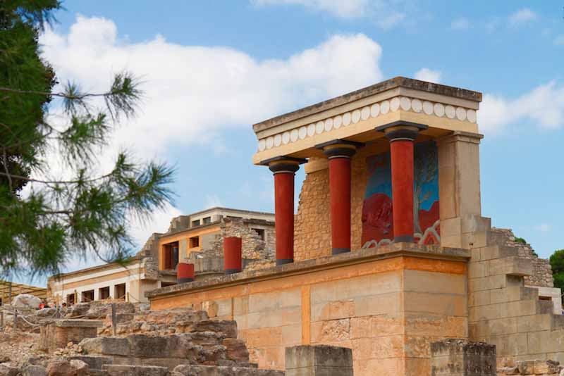
[[[466,263],[378,255],[390,251],[194,282],[188,291],[152,296],[152,309],[192,306],[235,320],[260,368],[283,370],[286,347],[327,344],[353,349],[356,376],[430,375],[431,342],[468,335]]]

